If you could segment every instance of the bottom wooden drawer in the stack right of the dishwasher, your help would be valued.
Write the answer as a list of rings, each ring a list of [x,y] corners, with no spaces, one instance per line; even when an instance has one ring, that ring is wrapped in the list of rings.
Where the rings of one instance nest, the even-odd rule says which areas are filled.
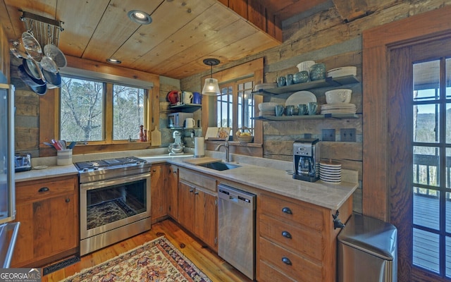
[[[259,259],[274,266],[283,274],[295,278],[296,281],[321,281],[320,265],[299,257],[265,238],[259,238],[259,252]]]

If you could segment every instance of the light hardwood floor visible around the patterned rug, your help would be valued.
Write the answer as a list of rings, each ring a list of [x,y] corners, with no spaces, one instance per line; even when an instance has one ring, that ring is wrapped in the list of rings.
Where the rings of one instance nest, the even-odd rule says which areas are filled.
[[[201,271],[209,276],[211,281],[237,282],[251,280],[230,266],[221,257],[218,257],[214,251],[204,247],[199,241],[192,238],[171,219],[166,219],[152,225],[152,230],[144,232],[135,237],[123,240],[115,245],[105,247],[104,249],[85,255],[80,262],[67,266],[64,269],[52,272],[42,278],[42,282],[61,281],[63,278],[87,269],[108,259],[121,255],[139,245],[150,240],[154,240],[161,235],[165,235],[171,243],[180,250],[183,255],[190,259]],[[180,247],[185,245],[185,247]]]

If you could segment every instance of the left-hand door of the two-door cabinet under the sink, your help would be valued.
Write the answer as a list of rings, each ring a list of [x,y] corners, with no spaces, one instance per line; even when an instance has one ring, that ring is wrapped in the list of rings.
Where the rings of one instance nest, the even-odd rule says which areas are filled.
[[[178,222],[194,232],[194,186],[178,182]]]

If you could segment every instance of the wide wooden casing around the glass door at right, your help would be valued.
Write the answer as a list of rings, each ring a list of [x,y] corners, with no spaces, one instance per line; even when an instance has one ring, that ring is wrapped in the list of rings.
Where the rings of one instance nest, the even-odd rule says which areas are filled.
[[[389,221],[387,48],[414,38],[448,32],[451,6],[374,27],[363,33],[364,178],[363,212]],[[377,83],[376,83],[377,82]]]

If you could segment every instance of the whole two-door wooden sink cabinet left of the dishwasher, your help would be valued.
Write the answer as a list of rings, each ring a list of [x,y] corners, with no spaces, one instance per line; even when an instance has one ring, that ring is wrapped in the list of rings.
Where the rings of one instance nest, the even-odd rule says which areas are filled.
[[[217,250],[218,194],[216,180],[179,168],[178,221]]]

